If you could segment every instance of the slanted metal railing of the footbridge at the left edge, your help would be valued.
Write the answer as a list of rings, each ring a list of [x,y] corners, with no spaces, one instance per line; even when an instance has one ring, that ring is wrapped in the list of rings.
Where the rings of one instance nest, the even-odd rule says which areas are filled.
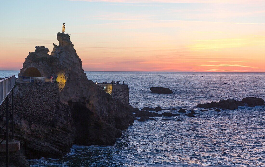
[[[15,86],[15,75],[0,80],[0,105]]]

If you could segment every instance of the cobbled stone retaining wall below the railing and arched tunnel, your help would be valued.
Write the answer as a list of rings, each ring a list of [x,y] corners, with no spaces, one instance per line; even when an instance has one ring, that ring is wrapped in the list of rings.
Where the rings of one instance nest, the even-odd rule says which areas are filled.
[[[57,83],[16,83],[14,96],[15,112],[19,112],[23,120],[52,124],[59,96]]]

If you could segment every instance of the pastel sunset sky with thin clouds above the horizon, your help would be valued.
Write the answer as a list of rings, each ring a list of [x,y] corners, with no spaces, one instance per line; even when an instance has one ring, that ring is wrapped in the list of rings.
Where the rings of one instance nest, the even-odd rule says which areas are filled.
[[[0,1],[0,70],[65,33],[85,71],[265,72],[264,0]]]

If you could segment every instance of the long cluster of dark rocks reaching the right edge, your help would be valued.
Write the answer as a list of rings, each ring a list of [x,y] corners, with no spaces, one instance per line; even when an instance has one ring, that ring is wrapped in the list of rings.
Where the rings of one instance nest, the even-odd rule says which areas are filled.
[[[255,107],[255,106],[263,106],[264,100],[262,98],[255,98],[255,97],[246,97],[243,98],[241,101],[235,99],[227,99],[227,100],[220,100],[219,102],[211,102],[206,104],[198,104],[197,107],[200,108],[222,108],[222,109],[238,109],[239,106],[248,106],[248,107]]]

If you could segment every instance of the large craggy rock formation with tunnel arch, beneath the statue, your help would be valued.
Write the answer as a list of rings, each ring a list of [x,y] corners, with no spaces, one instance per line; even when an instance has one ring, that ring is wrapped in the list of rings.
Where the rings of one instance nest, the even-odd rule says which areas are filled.
[[[35,109],[29,109],[16,103],[21,106],[15,108],[16,129],[19,131],[16,138],[21,140],[21,147],[25,149],[23,155],[29,158],[60,156],[74,143],[114,144],[121,130],[135,119],[127,106],[87,79],[69,35],[58,33],[57,39],[59,46],[54,44],[51,55],[43,46],[36,46],[34,52],[29,52],[19,73],[19,76],[57,77],[58,84],[54,84],[58,94],[56,100],[42,104],[42,100],[30,98],[30,93],[35,94],[34,90],[40,91],[39,86],[34,88],[35,83],[15,88],[18,102],[23,98],[25,105],[36,105]],[[38,83],[42,84],[49,83]],[[25,91],[21,95],[21,90],[28,87],[32,92]],[[44,98],[46,96],[49,92],[43,94]],[[49,108],[47,105],[52,110],[46,109]],[[36,115],[38,110],[43,111],[39,117]],[[46,116],[48,120],[43,120]]]

